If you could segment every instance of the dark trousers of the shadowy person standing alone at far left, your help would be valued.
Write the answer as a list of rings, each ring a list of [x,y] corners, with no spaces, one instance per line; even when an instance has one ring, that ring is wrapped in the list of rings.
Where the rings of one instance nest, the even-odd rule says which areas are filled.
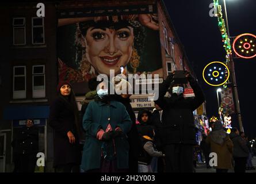
[[[19,154],[18,173],[34,173],[36,167],[36,153]]]

